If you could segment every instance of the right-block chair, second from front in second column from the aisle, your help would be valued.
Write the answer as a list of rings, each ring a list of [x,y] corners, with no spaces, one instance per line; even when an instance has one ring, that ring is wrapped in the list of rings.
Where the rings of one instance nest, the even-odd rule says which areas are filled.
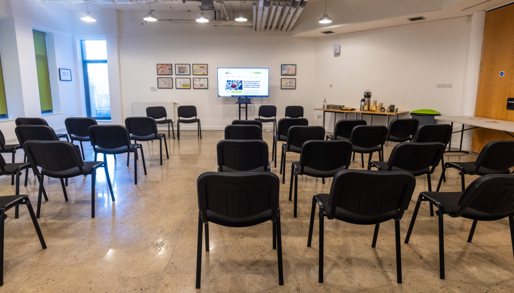
[[[323,140],[325,129],[321,126],[291,126],[287,132],[286,143],[282,144],[282,155],[280,156],[280,174],[282,183],[286,178],[286,153],[300,154],[302,145],[307,140]],[[284,172],[282,172],[284,171]]]

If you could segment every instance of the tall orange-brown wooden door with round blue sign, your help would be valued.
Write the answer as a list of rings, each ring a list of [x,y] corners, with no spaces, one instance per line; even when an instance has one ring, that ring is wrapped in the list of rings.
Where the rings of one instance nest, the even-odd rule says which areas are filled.
[[[514,5],[486,17],[475,116],[514,121],[514,111],[506,109],[507,98],[514,98]],[[512,139],[503,131],[479,128],[473,131],[471,150],[479,153],[490,141]]]

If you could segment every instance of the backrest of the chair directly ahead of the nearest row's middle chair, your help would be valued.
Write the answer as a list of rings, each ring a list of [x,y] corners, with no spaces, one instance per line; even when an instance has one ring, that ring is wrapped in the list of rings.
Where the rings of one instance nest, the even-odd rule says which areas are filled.
[[[352,143],[347,140],[307,140],[300,153],[300,171],[309,167],[318,171],[332,171],[350,166]]]

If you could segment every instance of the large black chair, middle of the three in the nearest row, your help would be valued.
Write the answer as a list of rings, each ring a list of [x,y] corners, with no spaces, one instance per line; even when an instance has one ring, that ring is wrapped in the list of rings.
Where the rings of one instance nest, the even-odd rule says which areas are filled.
[[[319,280],[323,283],[324,217],[351,224],[375,225],[373,242],[377,243],[380,223],[394,219],[396,242],[396,274],[401,283],[400,219],[416,186],[416,179],[407,172],[376,172],[365,170],[339,171],[332,181],[330,194],[313,197],[307,247],[313,235],[316,204],[319,206]]]

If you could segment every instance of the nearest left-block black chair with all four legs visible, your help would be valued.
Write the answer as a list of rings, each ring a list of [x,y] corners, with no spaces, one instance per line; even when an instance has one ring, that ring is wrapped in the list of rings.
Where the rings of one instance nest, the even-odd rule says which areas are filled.
[[[105,170],[105,178],[114,202],[114,192],[107,170],[107,163],[102,161],[83,161],[75,144],[67,141],[26,141],[23,150],[29,159],[33,170],[39,175],[38,210],[36,217],[41,213],[41,194],[45,176],[59,178],[71,178],[76,176],[91,175],[91,217],[95,217],[95,183],[96,170],[100,167]],[[41,172],[38,167],[41,168]],[[66,189],[63,186],[64,200],[68,201]]]

